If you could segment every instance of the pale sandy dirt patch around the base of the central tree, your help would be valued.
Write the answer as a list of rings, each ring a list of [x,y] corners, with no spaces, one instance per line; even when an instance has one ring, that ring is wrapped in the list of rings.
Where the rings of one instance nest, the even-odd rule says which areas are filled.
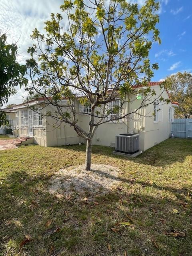
[[[118,168],[105,164],[92,164],[90,171],[84,170],[84,165],[60,169],[50,180],[48,190],[51,194],[59,192],[66,196],[74,192],[89,196],[106,194],[119,185],[118,173]]]

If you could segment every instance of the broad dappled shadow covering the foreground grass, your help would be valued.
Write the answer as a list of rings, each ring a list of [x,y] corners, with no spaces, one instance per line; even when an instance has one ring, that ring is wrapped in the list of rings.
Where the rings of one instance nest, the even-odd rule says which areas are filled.
[[[190,208],[180,204],[181,200],[189,204],[186,192],[151,184],[138,191],[137,182],[121,179],[117,189],[85,201],[76,193],[50,195],[48,178],[30,176],[25,170],[4,178],[0,188],[2,255],[116,256],[125,255],[124,251],[129,256],[190,255]],[[162,189],[170,194],[161,195]],[[122,221],[130,226],[119,224]],[[171,232],[185,236],[168,235]],[[26,235],[31,240],[19,248]]]

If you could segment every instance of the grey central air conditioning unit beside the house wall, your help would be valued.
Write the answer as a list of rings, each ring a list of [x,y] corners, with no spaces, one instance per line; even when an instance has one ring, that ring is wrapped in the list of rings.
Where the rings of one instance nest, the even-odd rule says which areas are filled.
[[[115,137],[116,152],[134,154],[139,151],[139,134],[124,133]]]

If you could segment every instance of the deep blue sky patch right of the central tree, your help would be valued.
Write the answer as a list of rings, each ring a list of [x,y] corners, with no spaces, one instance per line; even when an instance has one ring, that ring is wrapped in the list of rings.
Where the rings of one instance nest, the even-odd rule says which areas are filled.
[[[151,62],[158,62],[154,81],[172,73],[192,70],[192,1],[168,0],[162,3],[160,13],[161,45],[154,44]]]

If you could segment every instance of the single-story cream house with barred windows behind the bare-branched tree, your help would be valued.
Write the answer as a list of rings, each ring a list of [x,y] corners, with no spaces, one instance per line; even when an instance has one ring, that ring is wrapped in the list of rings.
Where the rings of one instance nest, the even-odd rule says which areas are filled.
[[[169,98],[166,90],[160,88],[160,82],[150,82],[156,95],[162,93],[164,99]],[[157,99],[153,104],[143,107],[138,110],[137,114],[133,113],[128,118],[122,121],[115,121],[116,116],[134,112],[142,102],[142,86],[136,86],[135,90],[140,90],[139,97],[137,95],[126,96],[129,102],[126,101],[122,108],[116,113],[111,113],[114,118],[113,122],[102,124],[96,130],[93,138],[93,144],[103,146],[115,146],[115,135],[122,133],[138,133],[140,135],[140,150],[144,151],[148,148],[166,140],[170,137],[171,123],[174,119],[174,107],[178,105],[176,102],[169,104],[158,105]],[[155,98],[148,99],[154,101]],[[61,100],[61,106],[66,106],[67,100]],[[118,105],[120,100],[111,102],[109,108],[113,105]],[[75,107],[79,112],[78,125],[84,130],[88,130],[88,122],[90,116],[85,113],[90,112],[89,106],[82,106],[79,100],[75,101]],[[31,108],[34,108],[32,110]],[[23,103],[13,106],[13,111],[16,111],[16,124],[19,130],[19,136],[30,136],[34,138],[34,143],[41,146],[60,146],[66,144],[77,144],[85,142],[83,138],[78,136],[74,128],[68,124],[58,123],[54,118],[45,117],[46,113],[52,112],[57,115],[56,108],[48,104],[44,98],[30,100],[28,103]],[[154,116],[152,116],[154,113]]]

